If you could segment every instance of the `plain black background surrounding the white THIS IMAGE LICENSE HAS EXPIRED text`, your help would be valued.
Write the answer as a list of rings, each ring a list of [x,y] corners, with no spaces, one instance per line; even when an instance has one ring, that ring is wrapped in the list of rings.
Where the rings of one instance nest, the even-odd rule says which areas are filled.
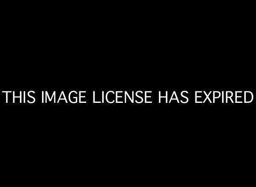
[[[154,104],[2,102],[5,176],[131,184],[250,178],[255,101],[196,105],[193,96],[255,94],[247,7],[42,7],[3,13],[1,91],[152,90]],[[187,105],[157,104],[157,91],[183,90]]]

